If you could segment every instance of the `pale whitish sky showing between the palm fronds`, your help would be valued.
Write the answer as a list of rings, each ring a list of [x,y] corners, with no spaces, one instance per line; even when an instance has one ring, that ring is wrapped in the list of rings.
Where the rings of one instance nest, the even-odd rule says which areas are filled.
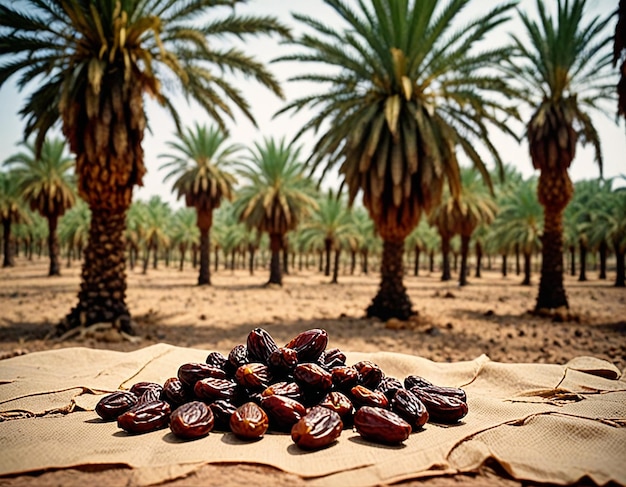
[[[617,0],[588,0],[589,13],[595,15],[607,15],[617,7]],[[547,0],[546,4],[556,4],[555,0]],[[474,0],[467,8],[467,18],[473,18],[494,5],[493,0]],[[520,0],[518,8],[534,13],[535,0]],[[239,5],[237,12],[242,14],[274,15],[283,23],[294,29],[294,33],[301,31],[301,27],[292,18],[291,12],[299,12],[312,17],[324,19],[333,27],[339,28],[342,24],[336,14],[322,0],[249,0],[245,5]],[[534,18],[534,17],[533,17]],[[613,28],[613,25],[611,28]],[[503,27],[497,35],[492,37],[493,42],[506,42],[510,32],[515,32],[522,36],[523,31],[519,28],[519,20],[514,18],[506,27]],[[258,60],[269,63],[279,55],[293,50],[293,47],[281,45],[276,37],[262,37],[250,39],[245,45],[240,45],[247,54],[255,56]],[[3,59],[2,62],[5,60]],[[296,97],[307,95],[315,88],[303,82],[289,81],[289,78],[301,74],[311,66],[293,62],[272,63],[269,65],[272,72],[281,82],[285,92],[286,100],[293,100]],[[15,85],[16,77],[10,78],[0,88],[0,161],[20,150],[18,144],[22,140],[24,130],[24,120],[19,116],[19,110],[25,103],[29,86],[19,92]],[[238,86],[244,90],[245,97],[251,104],[252,114],[257,120],[257,127],[252,125],[247,118],[235,109],[235,121],[229,122],[228,129],[233,142],[251,146],[254,142],[261,142],[264,137],[274,137],[280,139],[285,137],[287,141],[295,135],[297,130],[306,123],[311,113],[301,112],[274,117],[285,101],[275,96],[271,91],[254,82],[238,80]],[[183,97],[175,101],[181,119],[185,126],[195,122],[210,124],[211,120],[205,112],[193,104],[189,104]],[[606,114],[596,115],[593,118],[594,124],[600,135],[602,144],[602,154],[604,158],[604,177],[616,178],[626,175],[626,129],[624,121],[616,124],[615,107],[608,107]],[[147,99],[146,113],[151,132],[146,132],[144,136],[145,163],[147,174],[144,177],[144,186],[136,188],[135,199],[146,200],[153,195],[160,195],[164,200],[173,206],[182,206],[182,202],[176,201],[171,193],[171,181],[163,182],[165,172],[159,170],[164,162],[159,159],[160,154],[168,152],[167,141],[174,140],[175,125],[169,117],[168,112],[155,102]],[[523,127],[516,127],[516,133],[522,135]],[[54,133],[54,132],[53,132]],[[60,131],[56,131],[59,134]],[[505,163],[510,163],[517,167],[525,177],[537,174],[533,170],[528,146],[526,143],[518,143],[510,136],[502,135],[498,132],[492,134],[494,145],[498,148]],[[313,146],[314,137],[312,133],[301,138],[303,146],[302,154],[307,156]],[[308,151],[308,152],[307,152]],[[489,160],[486,161],[491,166]],[[591,179],[600,176],[599,168],[594,161],[594,152],[591,147],[577,149],[576,158],[570,168],[570,177],[574,181],[581,179]],[[322,187],[336,187],[339,179],[336,173],[329,174],[324,180]],[[626,185],[626,180],[617,180],[615,186]]]

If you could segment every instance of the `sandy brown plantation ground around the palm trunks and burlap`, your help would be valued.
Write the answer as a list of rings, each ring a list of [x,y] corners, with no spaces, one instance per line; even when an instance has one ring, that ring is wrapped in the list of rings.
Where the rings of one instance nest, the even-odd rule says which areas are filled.
[[[562,364],[592,355],[626,368],[626,289],[613,287],[613,277],[578,282],[566,276],[571,314],[561,321],[532,316],[539,276],[522,286],[522,276],[483,272],[459,288],[441,282],[440,274],[407,275],[405,285],[417,318],[409,323],[364,319],[377,291],[379,276],[340,275],[330,284],[313,269],[292,271],[282,287],[265,287],[266,270],[220,269],[213,285],[195,285],[197,272],[187,267],[128,272],[127,303],[141,340],[120,341],[106,332],[59,342],[46,338],[54,324],[76,304],[80,267],[64,268],[61,277],[47,277],[45,259],[17,259],[0,269],[0,358],[38,350],[87,346],[129,351],[157,342],[203,350],[228,351],[245,341],[257,326],[277,342],[286,342],[308,328],[324,328],[329,347],[352,351],[386,350],[421,355],[435,361],[471,360],[481,354],[502,362]],[[2,362],[0,361],[0,366]],[[126,485],[126,469],[61,470],[37,476],[0,479],[0,485],[78,485],[85,482]],[[235,480],[236,479],[236,480]],[[212,465],[169,485],[298,485],[292,475],[255,465]],[[406,485],[529,485],[507,478],[498,466],[485,466],[477,476],[433,478]],[[582,483],[581,485],[587,485]],[[593,484],[589,484],[593,485]]]

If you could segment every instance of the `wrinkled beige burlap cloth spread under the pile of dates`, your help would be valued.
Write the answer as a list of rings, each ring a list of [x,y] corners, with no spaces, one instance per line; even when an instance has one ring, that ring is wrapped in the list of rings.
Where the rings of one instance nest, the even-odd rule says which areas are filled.
[[[349,353],[387,375],[422,375],[467,391],[469,414],[455,426],[427,424],[401,446],[344,431],[335,445],[299,450],[285,434],[245,443],[211,433],[196,441],[168,429],[127,435],[93,408],[102,394],[164,382],[206,351],[154,345],[122,353],[71,348],[0,362],[0,475],[90,464],[127,465],[150,485],[212,462],[272,465],[311,485],[366,486],[476,470],[495,459],[514,478],[568,484],[626,484],[626,380],[612,364],[580,357],[561,365],[503,364],[481,356],[435,363],[394,353]]]

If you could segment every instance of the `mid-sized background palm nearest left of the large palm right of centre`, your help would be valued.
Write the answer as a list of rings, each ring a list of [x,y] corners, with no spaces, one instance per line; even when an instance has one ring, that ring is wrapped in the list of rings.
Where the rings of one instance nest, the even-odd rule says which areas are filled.
[[[282,285],[280,251],[287,232],[317,206],[313,184],[304,174],[300,148],[284,139],[255,142],[238,174],[245,181],[234,202],[235,211],[248,228],[270,238],[269,284]]]

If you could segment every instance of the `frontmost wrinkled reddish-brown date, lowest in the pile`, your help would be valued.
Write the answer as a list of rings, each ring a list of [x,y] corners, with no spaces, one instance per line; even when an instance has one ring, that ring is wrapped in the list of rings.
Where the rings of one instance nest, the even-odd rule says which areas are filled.
[[[341,431],[343,422],[335,411],[315,406],[300,418],[291,428],[291,439],[300,448],[319,450],[334,443]]]

